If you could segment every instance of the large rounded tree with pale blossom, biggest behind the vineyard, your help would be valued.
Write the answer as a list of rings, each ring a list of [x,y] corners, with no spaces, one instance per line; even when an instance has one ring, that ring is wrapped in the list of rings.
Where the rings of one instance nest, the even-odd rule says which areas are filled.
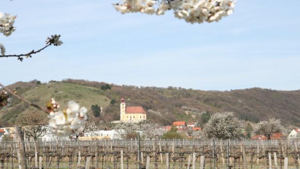
[[[234,117],[233,113],[215,113],[204,125],[207,138],[228,139],[238,138],[242,129],[242,121]]]

